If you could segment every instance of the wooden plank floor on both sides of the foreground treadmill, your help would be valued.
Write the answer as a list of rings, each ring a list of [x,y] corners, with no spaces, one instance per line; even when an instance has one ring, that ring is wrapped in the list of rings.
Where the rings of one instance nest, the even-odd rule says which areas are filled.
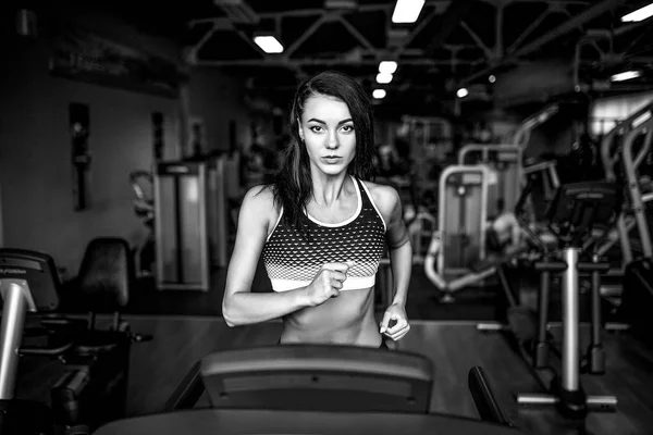
[[[281,333],[280,322],[230,328],[215,318],[133,316],[130,323],[133,331],[155,336],[132,350],[130,415],[161,411],[186,371],[207,353],[274,344]],[[538,383],[500,334],[479,333],[469,322],[414,321],[397,348],[426,355],[434,362],[433,412],[476,418],[467,372],[481,365],[508,417],[526,433],[653,434],[653,351],[628,335],[606,336],[607,373],[582,378],[589,394],[615,394],[618,411],[591,414],[581,424],[563,420],[554,409],[517,408],[513,395],[538,391]],[[56,362],[22,360],[17,396],[47,402],[44,378],[59,370]]]

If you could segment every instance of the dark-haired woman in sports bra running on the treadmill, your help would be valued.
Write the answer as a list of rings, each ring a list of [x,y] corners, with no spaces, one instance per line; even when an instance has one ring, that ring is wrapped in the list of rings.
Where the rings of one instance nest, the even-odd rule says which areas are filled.
[[[298,87],[282,166],[243,200],[222,302],[230,326],[282,318],[282,344],[367,347],[408,332],[412,252],[397,191],[366,181],[373,128],[369,98],[348,76],[324,72]],[[395,296],[377,325],[373,285],[386,246]],[[261,254],[273,293],[250,291]]]

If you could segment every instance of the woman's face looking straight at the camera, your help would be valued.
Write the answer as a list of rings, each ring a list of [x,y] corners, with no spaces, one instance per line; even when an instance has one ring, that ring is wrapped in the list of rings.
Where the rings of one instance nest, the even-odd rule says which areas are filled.
[[[313,173],[345,172],[356,156],[356,132],[349,108],[334,97],[313,95],[306,100],[299,137],[306,144]]]

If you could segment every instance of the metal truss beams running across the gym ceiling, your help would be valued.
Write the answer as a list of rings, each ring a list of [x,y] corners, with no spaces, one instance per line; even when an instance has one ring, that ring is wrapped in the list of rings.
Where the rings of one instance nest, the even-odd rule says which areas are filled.
[[[485,5],[494,9],[494,13],[488,16],[490,29],[475,28],[475,24],[466,21],[466,16],[472,11],[471,0],[427,0],[422,16],[418,22],[409,27],[393,26],[391,16],[394,10],[394,2],[379,2],[361,4],[358,1],[350,1],[340,7],[324,8],[303,8],[303,9],[282,9],[275,7],[276,11],[257,12],[247,4],[247,0],[215,0],[214,4],[222,9],[225,16],[202,17],[188,22],[190,29],[197,29],[199,26],[207,26],[204,36],[187,50],[187,62],[194,66],[274,66],[287,69],[294,72],[298,77],[305,75],[305,66],[335,67],[341,65],[375,65],[380,60],[401,59],[402,65],[421,65],[427,72],[442,69],[449,71],[449,77],[453,82],[452,87],[467,86],[479,79],[484,79],[488,75],[510,67],[520,63],[528,63],[534,54],[553,41],[556,41],[579,28],[587,28],[594,24],[596,18],[609,13],[617,13],[616,9],[623,7],[624,0],[602,0],[593,2],[591,0],[482,0]],[[505,40],[506,27],[514,23],[507,23],[504,20],[506,11],[514,5],[532,4],[540,7],[541,12],[530,23],[525,24],[518,36],[514,40]],[[543,8],[542,8],[543,7]],[[582,9],[579,11],[579,9]],[[349,15],[383,14],[385,28],[384,38],[372,38],[365,35],[355,25],[348,21]],[[558,20],[559,24],[546,28],[544,26],[551,17]],[[307,23],[306,29],[294,36],[293,40],[284,41],[286,51],[281,54],[266,54],[254,45],[247,28],[260,25],[262,22],[269,23],[268,27],[274,27],[275,34],[285,34],[284,26],[293,26],[293,20],[308,18],[312,23]],[[313,36],[324,24],[337,22],[343,25],[346,34],[356,44],[356,47],[346,52],[317,52],[305,55],[297,55],[298,50]],[[420,48],[415,48],[414,41],[420,33],[429,26],[436,26],[438,32]],[[481,32],[484,30],[484,32]],[[489,32],[488,32],[489,30]],[[600,28],[601,38],[607,37],[611,42],[617,38],[624,38],[624,35],[634,30],[645,30],[645,26],[636,23],[633,25],[624,25],[614,29],[604,26]],[[256,49],[262,55],[262,59],[252,59],[252,57],[241,55],[232,59],[201,59],[198,55],[202,47],[217,33],[231,32],[246,44]],[[514,32],[513,32],[514,34]],[[583,67],[592,69],[595,65],[595,59],[584,54],[580,48],[583,45],[595,44],[595,28],[584,30],[584,37],[581,38],[576,50],[575,75],[578,77],[579,70]],[[533,35],[538,35],[533,38]],[[607,35],[607,36],[605,36]],[[455,36],[456,39],[452,39]],[[218,36],[219,37],[219,36]],[[466,39],[460,39],[466,37]],[[637,40],[645,37],[645,32],[636,35]],[[384,42],[379,42],[379,40]],[[633,37],[634,40],[634,37]],[[623,62],[646,64],[651,59],[645,54],[629,52],[634,50],[633,44],[623,52],[613,52],[617,44],[609,44],[609,51],[601,51],[603,63],[614,64],[614,59],[621,59]],[[628,45],[627,45],[628,46]],[[448,52],[448,55],[445,53]],[[438,54],[438,55],[434,55]],[[443,55],[444,54],[444,55]],[[256,58],[256,57],[255,57]],[[366,73],[362,73],[366,74]],[[361,75],[362,75],[361,74]],[[372,73],[367,73],[367,78],[373,79]],[[364,78],[364,77],[361,77]],[[384,85],[385,88],[392,88],[397,92],[410,89],[432,89],[435,85],[428,80],[418,84],[415,77],[405,77],[403,84]],[[578,82],[578,79],[577,79]],[[630,85],[632,86],[632,85]],[[440,90],[441,88],[438,87]],[[449,89],[451,90],[451,89]]]

